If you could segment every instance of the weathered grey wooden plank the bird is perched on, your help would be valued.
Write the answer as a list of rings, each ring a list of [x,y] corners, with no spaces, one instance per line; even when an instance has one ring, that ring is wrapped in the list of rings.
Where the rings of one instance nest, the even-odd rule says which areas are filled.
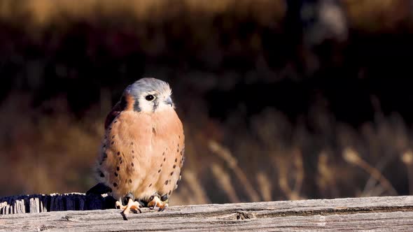
[[[0,231],[412,231],[413,196],[144,208],[127,217],[120,210],[1,215]]]

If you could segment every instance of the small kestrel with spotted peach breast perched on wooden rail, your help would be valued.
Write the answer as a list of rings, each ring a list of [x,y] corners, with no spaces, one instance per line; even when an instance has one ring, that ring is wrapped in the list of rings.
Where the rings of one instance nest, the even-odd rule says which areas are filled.
[[[123,215],[145,206],[165,210],[181,180],[185,152],[169,84],[141,78],[127,86],[104,128],[95,173],[111,189],[116,208]]]

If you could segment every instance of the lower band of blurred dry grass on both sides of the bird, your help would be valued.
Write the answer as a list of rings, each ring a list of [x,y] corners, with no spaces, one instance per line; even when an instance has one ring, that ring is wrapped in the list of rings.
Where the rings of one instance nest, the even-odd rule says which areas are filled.
[[[28,100],[21,94],[13,94],[0,107],[1,126],[8,131],[1,134],[0,185],[7,186],[1,189],[1,194],[86,191],[94,183],[90,168],[103,134],[104,110],[92,108],[90,116],[78,121],[67,111],[63,99],[45,103],[36,110],[31,110]],[[48,108],[54,110],[45,115],[43,110]],[[337,124],[337,128],[342,128],[337,136],[337,142],[343,148],[341,161],[332,150],[316,147],[321,152],[311,158],[315,161],[314,170],[306,164],[309,159],[303,159],[303,152],[314,156],[304,148],[306,144],[314,143],[314,137],[311,138],[311,133],[300,126],[292,127],[281,113],[274,110],[255,117],[260,127],[252,133],[232,134],[232,138],[225,136],[226,130],[211,133],[204,130],[206,127],[199,127],[200,117],[184,115],[183,118],[188,162],[183,170],[183,181],[174,194],[177,204],[294,200],[308,198],[314,191],[318,197],[397,195],[391,180],[382,173],[389,161],[374,167],[381,156],[387,154],[376,156],[372,153],[380,149],[375,147],[377,145],[391,150],[390,153],[404,147],[405,152],[398,153],[402,154],[400,159],[388,159],[405,164],[412,188],[412,152],[407,149],[407,134],[398,131],[403,124],[397,115],[365,125],[360,133]],[[221,128],[230,128],[226,123],[236,121],[228,120],[221,124]],[[243,130],[248,128],[237,126]],[[302,136],[304,133],[310,136]],[[381,133],[391,134],[393,140],[388,136],[380,140]],[[288,134],[292,140],[281,138]],[[216,139],[221,140],[220,143]],[[228,146],[224,147],[224,143]],[[291,144],[295,145],[291,147]],[[358,172],[357,168],[363,172]],[[314,175],[317,189],[309,186],[313,181],[311,175]],[[223,194],[217,195],[211,188],[221,189]],[[217,197],[228,200],[218,200]]]

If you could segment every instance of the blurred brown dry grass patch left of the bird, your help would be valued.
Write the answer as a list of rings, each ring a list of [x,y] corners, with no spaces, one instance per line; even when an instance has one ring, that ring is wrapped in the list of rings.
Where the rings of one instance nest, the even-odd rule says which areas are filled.
[[[25,193],[78,191],[90,186],[89,168],[103,133],[103,117],[76,122],[67,114],[63,99],[35,111],[28,100],[13,94],[1,107],[1,128],[8,131],[0,147],[0,185],[7,186],[2,194],[15,194],[16,189]],[[41,110],[49,107],[55,112],[44,117]]]

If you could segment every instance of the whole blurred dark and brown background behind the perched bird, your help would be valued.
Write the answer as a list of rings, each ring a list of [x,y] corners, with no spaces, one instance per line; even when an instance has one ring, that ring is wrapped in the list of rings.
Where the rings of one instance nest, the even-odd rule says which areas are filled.
[[[85,192],[104,119],[166,80],[171,203],[413,193],[412,0],[2,0],[0,196]]]

